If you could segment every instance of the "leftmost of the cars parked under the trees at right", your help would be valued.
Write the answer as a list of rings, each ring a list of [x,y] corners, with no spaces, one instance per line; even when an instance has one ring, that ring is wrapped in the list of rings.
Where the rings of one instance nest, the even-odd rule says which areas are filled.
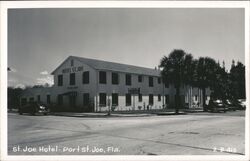
[[[209,100],[208,106],[206,107],[206,111],[209,112],[226,112],[228,108],[222,102],[222,100]]]

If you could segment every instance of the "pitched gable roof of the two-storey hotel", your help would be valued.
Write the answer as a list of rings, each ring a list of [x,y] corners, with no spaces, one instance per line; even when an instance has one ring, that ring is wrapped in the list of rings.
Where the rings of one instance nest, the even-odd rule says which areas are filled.
[[[92,67],[94,69],[97,69],[97,70],[109,70],[109,71],[124,72],[124,73],[134,73],[134,74],[150,75],[150,76],[160,76],[160,70],[151,69],[151,68],[144,68],[144,67],[139,67],[139,66],[134,66],[134,65],[114,63],[114,62],[108,62],[108,61],[97,60],[97,59],[89,59],[89,58],[83,58],[83,57],[76,57],[76,56],[70,56],[67,59],[69,59],[69,58],[77,59],[78,61],[80,61],[80,62],[82,62],[84,64],[87,64],[90,67]],[[52,74],[54,74],[54,72],[57,69],[55,69],[52,72]]]

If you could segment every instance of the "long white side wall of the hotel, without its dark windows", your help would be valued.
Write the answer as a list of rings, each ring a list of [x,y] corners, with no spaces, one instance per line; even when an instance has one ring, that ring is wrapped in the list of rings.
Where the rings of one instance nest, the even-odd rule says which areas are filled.
[[[98,71],[99,72],[99,71]],[[126,85],[126,74],[130,73],[122,73],[122,72],[115,72],[118,73],[119,77],[119,84],[113,85],[112,84],[112,72],[114,71],[105,71],[107,75],[107,83],[106,84],[97,84],[97,101],[96,101],[96,111],[105,111],[108,109],[108,105],[105,107],[99,107],[99,93],[106,93],[107,97],[112,101],[111,95],[112,93],[119,94],[119,109],[117,110],[137,110],[139,106],[142,108],[143,105],[147,106],[149,104],[149,94],[154,95],[154,105],[150,108],[159,109],[163,107],[163,102],[158,101],[158,94],[163,94],[163,84],[162,82],[158,83],[158,77],[153,77],[153,87],[149,87],[149,76],[142,75],[142,82],[138,82],[138,74],[131,74],[131,85]],[[97,75],[97,79],[99,81],[99,74]],[[131,88],[140,88],[140,93],[142,94],[142,102],[139,102],[138,94],[131,95],[131,106],[126,106],[125,95],[128,94],[128,90]],[[166,90],[168,92],[168,90]],[[95,98],[95,99],[96,99]],[[108,99],[107,98],[107,99]],[[134,102],[135,101],[135,102]],[[135,107],[133,107],[133,103],[135,103]]]

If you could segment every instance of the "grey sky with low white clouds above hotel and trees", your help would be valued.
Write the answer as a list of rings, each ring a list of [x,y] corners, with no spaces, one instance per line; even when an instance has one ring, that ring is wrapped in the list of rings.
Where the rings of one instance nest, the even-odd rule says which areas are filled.
[[[8,86],[53,84],[68,56],[154,68],[174,49],[194,58],[244,58],[244,9],[85,8],[8,11]]]

